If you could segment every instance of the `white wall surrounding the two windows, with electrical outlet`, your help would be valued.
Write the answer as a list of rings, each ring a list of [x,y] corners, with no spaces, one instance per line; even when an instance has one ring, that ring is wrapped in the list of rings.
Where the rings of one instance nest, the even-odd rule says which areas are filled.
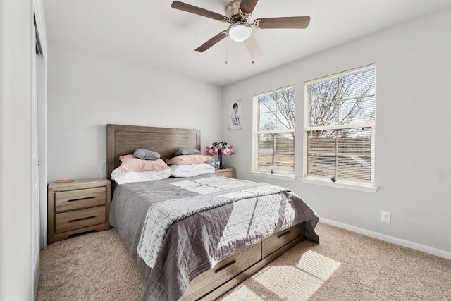
[[[223,130],[237,153],[226,163],[239,178],[288,186],[324,219],[450,257],[450,37],[448,8],[226,87],[224,120],[230,102],[243,102],[242,130]],[[249,174],[254,94],[296,85],[300,176],[304,82],[370,63],[376,63],[376,194]],[[390,224],[381,223],[381,211],[391,212]]]

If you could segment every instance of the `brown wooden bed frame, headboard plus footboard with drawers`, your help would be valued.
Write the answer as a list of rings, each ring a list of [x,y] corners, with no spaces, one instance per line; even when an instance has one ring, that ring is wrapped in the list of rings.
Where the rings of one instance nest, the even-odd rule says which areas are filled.
[[[179,149],[200,149],[200,130],[106,125],[108,177],[121,161],[119,156],[136,149],[152,149],[161,159],[171,159]],[[292,226],[230,255],[190,282],[181,300],[214,300],[256,271],[305,240],[304,223]]]

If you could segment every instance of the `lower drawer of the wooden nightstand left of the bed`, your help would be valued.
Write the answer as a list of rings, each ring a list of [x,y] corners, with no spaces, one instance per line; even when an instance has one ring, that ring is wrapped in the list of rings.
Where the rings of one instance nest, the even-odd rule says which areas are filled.
[[[94,226],[106,222],[106,207],[99,206],[58,213],[55,220],[56,233]]]

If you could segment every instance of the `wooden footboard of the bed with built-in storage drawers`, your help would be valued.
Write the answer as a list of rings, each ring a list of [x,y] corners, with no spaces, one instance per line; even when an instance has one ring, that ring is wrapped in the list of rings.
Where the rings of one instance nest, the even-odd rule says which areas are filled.
[[[215,300],[304,239],[304,223],[299,223],[230,255],[194,278],[180,300]]]

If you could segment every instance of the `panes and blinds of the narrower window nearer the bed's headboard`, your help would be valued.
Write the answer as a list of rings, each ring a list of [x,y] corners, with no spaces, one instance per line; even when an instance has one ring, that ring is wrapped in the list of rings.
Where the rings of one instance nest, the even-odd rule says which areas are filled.
[[[254,171],[295,173],[295,87],[254,97]]]

